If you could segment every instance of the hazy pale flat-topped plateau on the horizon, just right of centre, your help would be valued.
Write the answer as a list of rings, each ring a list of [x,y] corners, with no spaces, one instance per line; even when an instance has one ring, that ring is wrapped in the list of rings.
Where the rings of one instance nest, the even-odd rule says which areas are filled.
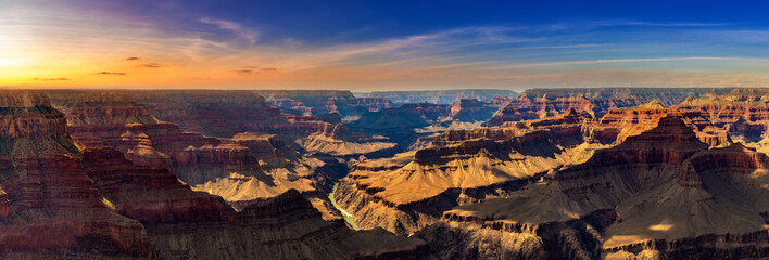
[[[509,90],[468,89],[468,90],[433,90],[433,91],[373,91],[368,98],[380,98],[394,103],[433,103],[452,104],[462,99],[488,100],[495,96],[515,98],[518,93]]]

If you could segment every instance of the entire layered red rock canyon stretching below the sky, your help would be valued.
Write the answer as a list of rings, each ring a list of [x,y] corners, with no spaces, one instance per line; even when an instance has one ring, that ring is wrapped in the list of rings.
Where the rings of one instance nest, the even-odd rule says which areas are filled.
[[[0,256],[769,257],[769,90],[455,94],[2,90]]]

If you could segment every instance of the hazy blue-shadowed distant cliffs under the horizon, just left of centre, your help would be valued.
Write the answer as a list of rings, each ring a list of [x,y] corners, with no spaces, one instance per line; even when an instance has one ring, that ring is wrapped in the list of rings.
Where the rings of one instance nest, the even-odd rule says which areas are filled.
[[[256,90],[254,93],[264,96],[267,103],[280,110],[297,115],[338,113],[342,117],[356,117],[393,106],[389,100],[355,98],[346,90]]]

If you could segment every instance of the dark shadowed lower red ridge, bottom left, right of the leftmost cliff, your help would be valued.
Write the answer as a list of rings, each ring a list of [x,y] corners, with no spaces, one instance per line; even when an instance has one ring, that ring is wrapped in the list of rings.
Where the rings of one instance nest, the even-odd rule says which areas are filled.
[[[240,212],[193,192],[162,168],[135,166],[121,152],[91,147],[85,169],[102,199],[138,220],[165,259],[352,259],[416,257],[424,242],[327,222],[295,190]]]

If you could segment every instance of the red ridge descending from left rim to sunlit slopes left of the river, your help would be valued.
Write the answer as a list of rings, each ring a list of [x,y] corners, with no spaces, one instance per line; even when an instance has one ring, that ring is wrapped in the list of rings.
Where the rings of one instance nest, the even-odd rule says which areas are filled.
[[[73,136],[87,146],[111,146],[136,165],[169,168],[185,183],[225,197],[238,209],[294,188],[333,218],[317,188],[336,173],[319,170],[325,162],[306,165],[274,134],[205,136],[156,119],[146,105],[121,92],[47,93],[65,113]]]

